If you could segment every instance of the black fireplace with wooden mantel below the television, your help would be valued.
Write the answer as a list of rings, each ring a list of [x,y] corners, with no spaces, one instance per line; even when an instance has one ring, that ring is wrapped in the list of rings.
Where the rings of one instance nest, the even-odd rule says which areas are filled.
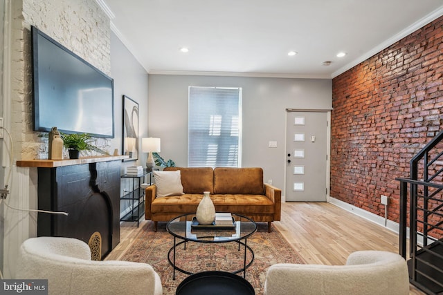
[[[105,258],[120,242],[121,159],[47,162],[53,166],[37,166],[38,209],[68,216],[38,213],[37,236],[78,238],[89,244],[93,259]]]

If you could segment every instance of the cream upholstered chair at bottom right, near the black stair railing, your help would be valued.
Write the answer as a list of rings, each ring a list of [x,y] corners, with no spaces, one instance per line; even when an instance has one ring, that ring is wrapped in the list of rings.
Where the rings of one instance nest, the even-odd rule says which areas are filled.
[[[408,267],[395,253],[356,251],[346,265],[272,265],[264,289],[266,295],[408,295]]]

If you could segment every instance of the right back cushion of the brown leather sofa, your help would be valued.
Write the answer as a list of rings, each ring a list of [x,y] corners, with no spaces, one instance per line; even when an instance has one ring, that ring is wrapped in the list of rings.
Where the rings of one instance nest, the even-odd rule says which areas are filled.
[[[264,195],[263,169],[217,167],[214,169],[214,193]]]

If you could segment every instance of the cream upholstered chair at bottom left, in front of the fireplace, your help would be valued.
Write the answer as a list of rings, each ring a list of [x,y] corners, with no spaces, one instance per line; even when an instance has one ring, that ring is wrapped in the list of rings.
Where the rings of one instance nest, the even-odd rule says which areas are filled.
[[[48,279],[49,294],[163,294],[150,265],[91,260],[89,246],[74,238],[30,238],[19,255],[15,277]]]

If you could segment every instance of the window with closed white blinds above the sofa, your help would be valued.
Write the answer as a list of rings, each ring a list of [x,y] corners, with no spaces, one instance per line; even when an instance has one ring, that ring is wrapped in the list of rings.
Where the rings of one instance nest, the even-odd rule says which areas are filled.
[[[239,167],[242,88],[190,87],[188,166]]]

